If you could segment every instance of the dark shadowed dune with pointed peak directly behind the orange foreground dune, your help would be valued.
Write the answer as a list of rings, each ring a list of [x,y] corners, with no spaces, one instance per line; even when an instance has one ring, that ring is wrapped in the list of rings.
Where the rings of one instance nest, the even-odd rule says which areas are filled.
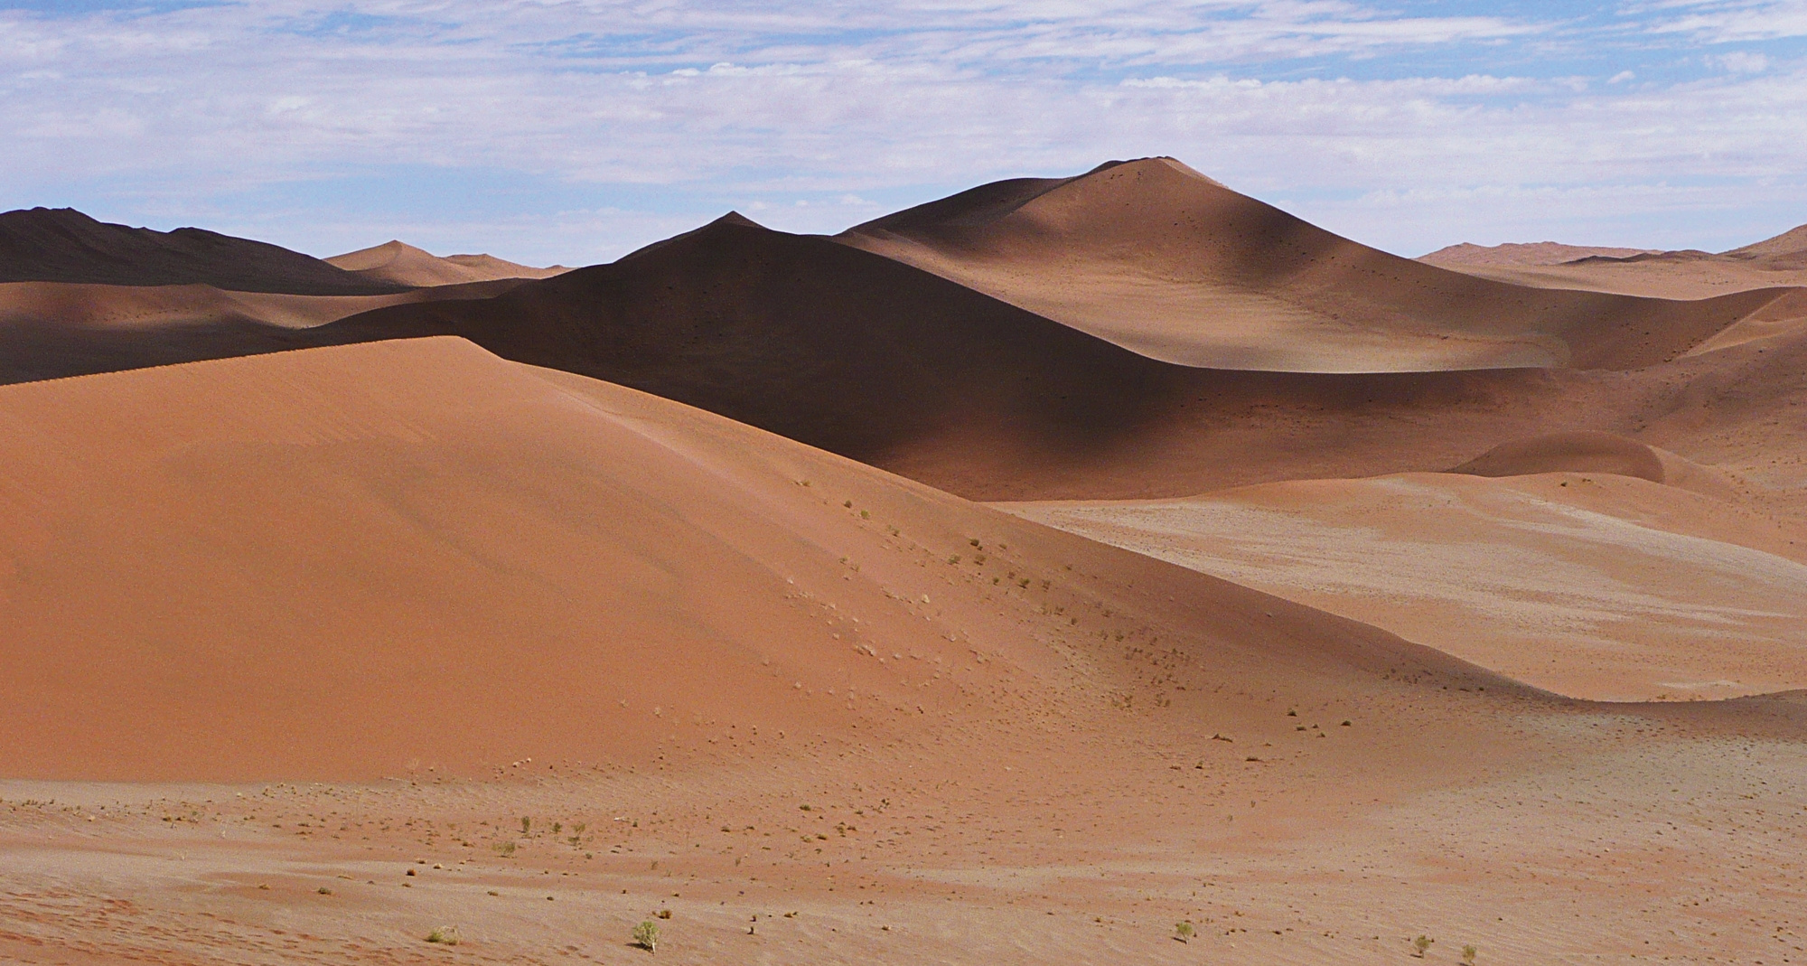
[[[1619,418],[1572,405],[1608,387],[1559,371],[1166,364],[741,217],[492,300],[398,306],[316,329],[340,342],[421,335],[698,405],[972,499],[1442,470],[1556,420]]]

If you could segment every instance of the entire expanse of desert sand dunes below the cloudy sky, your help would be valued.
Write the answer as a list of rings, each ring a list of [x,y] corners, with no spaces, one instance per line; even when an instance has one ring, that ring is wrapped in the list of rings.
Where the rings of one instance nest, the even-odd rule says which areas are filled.
[[[0,961],[1800,962],[1798,241],[0,215]]]

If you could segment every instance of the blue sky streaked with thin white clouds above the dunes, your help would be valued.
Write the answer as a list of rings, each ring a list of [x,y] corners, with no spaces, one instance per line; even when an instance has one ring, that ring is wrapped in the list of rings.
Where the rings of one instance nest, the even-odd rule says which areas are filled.
[[[0,0],[0,208],[584,264],[1171,154],[1404,255],[1807,223],[1807,0]]]

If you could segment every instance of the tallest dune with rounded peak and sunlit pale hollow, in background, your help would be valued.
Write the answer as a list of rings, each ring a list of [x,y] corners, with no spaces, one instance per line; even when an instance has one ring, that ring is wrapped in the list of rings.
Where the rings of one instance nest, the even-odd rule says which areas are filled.
[[[987,185],[837,241],[1218,369],[1635,369],[1780,295],[1668,302],[1476,279],[1332,235],[1167,157]]]

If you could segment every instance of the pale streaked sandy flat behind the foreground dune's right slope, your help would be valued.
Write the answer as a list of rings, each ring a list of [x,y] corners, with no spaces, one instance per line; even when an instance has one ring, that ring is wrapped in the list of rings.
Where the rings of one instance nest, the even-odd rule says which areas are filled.
[[[1632,476],[1409,474],[1010,508],[1563,695],[1693,700],[1807,684],[1800,532],[1641,479],[1661,472],[1655,458],[1641,465],[1630,447],[1597,441],[1476,463],[1596,461]]]

